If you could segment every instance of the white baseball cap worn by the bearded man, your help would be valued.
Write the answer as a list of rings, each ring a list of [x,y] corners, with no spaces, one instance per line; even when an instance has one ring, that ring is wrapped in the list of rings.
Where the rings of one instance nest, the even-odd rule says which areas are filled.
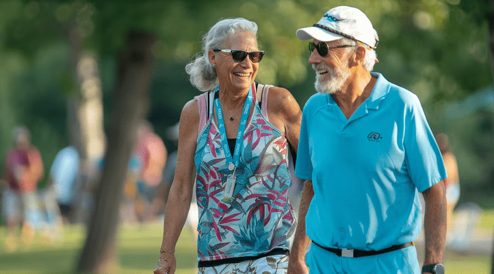
[[[343,37],[363,42],[374,49],[379,38],[367,16],[358,8],[341,5],[328,10],[312,27],[297,30],[300,40],[317,39],[329,42]]]

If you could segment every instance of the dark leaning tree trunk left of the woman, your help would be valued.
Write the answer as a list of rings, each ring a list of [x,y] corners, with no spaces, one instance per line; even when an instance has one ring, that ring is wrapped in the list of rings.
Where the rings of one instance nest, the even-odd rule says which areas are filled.
[[[129,158],[137,138],[136,127],[145,119],[149,108],[153,42],[155,36],[151,34],[131,32],[127,37],[126,49],[120,55],[108,149],[86,244],[77,266],[79,273],[118,273],[118,208]]]

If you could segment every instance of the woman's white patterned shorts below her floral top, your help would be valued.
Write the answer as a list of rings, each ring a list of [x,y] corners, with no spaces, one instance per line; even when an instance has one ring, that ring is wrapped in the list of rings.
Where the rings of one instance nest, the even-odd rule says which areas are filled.
[[[288,271],[288,256],[273,255],[256,260],[200,267],[198,274],[285,274]]]

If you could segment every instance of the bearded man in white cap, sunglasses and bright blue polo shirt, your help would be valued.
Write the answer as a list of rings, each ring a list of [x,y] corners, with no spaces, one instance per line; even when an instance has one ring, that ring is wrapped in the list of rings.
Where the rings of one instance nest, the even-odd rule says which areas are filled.
[[[302,114],[296,175],[308,181],[289,273],[444,273],[443,159],[417,96],[371,72],[369,18],[341,6],[296,34],[312,40],[317,94]],[[417,190],[426,201],[421,271]]]

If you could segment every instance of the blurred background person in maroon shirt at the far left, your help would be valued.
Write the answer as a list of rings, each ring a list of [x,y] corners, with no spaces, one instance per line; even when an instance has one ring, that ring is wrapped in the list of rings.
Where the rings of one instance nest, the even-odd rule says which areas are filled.
[[[22,224],[22,239],[29,244],[36,229],[42,226],[38,182],[44,174],[41,153],[31,145],[27,127],[19,126],[13,132],[14,145],[5,156],[2,196],[2,213],[7,221],[8,236],[5,243],[9,250],[18,247],[17,229]]]

